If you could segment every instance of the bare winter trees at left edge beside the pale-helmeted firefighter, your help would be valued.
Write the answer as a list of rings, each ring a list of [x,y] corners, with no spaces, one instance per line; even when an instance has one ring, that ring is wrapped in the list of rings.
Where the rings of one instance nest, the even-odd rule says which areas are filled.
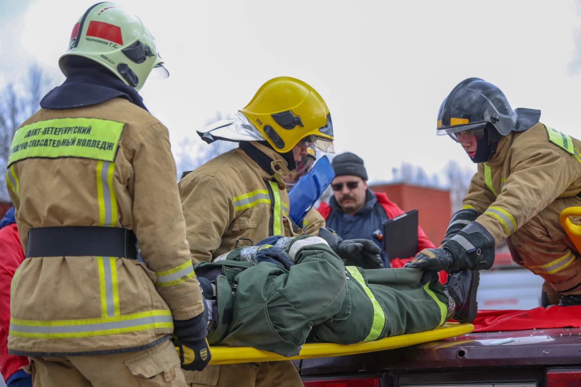
[[[0,91],[0,202],[10,201],[4,171],[12,137],[20,124],[40,108],[40,100],[50,84],[42,69],[33,65],[24,80],[8,84]]]

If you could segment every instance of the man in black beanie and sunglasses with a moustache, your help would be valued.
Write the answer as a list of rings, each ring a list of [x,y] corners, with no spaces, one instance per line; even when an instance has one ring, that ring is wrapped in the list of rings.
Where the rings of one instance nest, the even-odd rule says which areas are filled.
[[[333,159],[332,165],[335,169],[335,179],[331,184],[333,197],[328,205],[322,202],[318,212],[327,221],[327,227],[335,230],[341,238],[372,239],[382,249],[383,267],[391,267],[379,232],[383,232],[386,220],[403,214],[403,210],[385,193],[372,192],[367,187],[367,171],[361,157],[350,152],[342,153]],[[431,249],[432,246],[422,228],[418,227],[418,251]],[[390,257],[394,258],[413,257]],[[361,266],[361,263],[358,265]]]

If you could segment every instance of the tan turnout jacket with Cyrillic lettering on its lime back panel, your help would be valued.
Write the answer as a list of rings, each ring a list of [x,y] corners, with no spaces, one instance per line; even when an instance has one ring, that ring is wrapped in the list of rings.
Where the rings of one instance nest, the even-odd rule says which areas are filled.
[[[168,132],[155,117],[122,98],[40,109],[12,145],[7,177],[25,252],[30,228],[124,227],[147,267],[123,257],[24,260],[12,284],[10,350],[135,350],[203,310]]]

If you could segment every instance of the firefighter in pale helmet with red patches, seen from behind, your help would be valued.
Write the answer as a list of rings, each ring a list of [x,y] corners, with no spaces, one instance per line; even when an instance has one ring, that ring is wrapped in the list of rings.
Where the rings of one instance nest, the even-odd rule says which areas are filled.
[[[208,313],[168,131],[138,94],[152,70],[167,75],[156,42],[136,16],[97,3],[59,64],[66,81],[10,145],[26,259],[12,282],[9,352],[30,357],[35,386],[184,387],[180,363],[210,360]]]

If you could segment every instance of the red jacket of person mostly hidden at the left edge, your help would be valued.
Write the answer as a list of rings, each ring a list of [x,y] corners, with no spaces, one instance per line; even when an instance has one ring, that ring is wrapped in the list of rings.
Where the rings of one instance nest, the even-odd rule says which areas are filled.
[[[28,366],[28,358],[8,354],[10,329],[10,284],[16,269],[24,260],[24,251],[16,223],[0,228],[0,370],[4,380],[22,366]]]

